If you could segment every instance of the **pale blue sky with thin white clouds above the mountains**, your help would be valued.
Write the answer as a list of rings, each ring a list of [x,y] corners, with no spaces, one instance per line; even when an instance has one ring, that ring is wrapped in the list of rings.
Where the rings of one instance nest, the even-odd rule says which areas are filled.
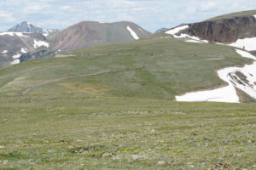
[[[0,31],[21,21],[63,29],[82,20],[129,20],[148,31],[256,8],[256,0],[0,0]]]

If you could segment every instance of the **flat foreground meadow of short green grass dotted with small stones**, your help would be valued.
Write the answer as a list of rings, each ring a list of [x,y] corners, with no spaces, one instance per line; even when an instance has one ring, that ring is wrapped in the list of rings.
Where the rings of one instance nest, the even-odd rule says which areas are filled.
[[[0,169],[256,166],[255,105],[32,94],[1,104]]]

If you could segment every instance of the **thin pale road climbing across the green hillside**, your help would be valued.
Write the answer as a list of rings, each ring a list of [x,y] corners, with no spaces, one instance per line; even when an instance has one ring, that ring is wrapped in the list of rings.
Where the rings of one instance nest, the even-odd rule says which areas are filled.
[[[34,84],[32,87],[26,88],[25,90],[20,91],[18,94],[20,94],[20,95],[27,94],[30,91],[32,91],[32,89],[38,88],[40,86],[44,86],[46,84],[49,84],[50,82],[60,82],[62,80],[66,80],[66,79],[70,79],[70,78],[91,77],[91,76],[98,76],[98,75],[107,74],[107,73],[111,73],[111,72],[131,71],[131,70],[143,69],[143,68],[146,68],[146,67],[158,66],[158,65],[170,65],[170,64],[173,64],[174,62],[188,62],[188,61],[200,61],[200,60],[209,60],[209,59],[184,59],[184,60],[172,61],[172,63],[163,63],[163,64],[154,64],[154,65],[143,65],[143,66],[138,66],[138,67],[133,67],[133,68],[126,68],[126,69],[120,69],[120,70],[115,70],[115,71],[100,71],[100,72],[91,73],[91,74],[84,74],[84,75],[78,75],[78,76],[72,76],[72,77],[62,77],[62,78],[52,79],[52,80],[45,81],[45,82],[38,82],[37,84]],[[214,59],[212,59],[212,60],[214,60]]]

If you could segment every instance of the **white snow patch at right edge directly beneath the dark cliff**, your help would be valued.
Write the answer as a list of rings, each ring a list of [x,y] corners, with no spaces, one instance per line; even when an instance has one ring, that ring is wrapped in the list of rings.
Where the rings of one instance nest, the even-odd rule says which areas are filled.
[[[236,42],[227,44],[236,48],[244,48],[247,51],[256,50],[256,37],[247,37],[244,39],[238,39]]]

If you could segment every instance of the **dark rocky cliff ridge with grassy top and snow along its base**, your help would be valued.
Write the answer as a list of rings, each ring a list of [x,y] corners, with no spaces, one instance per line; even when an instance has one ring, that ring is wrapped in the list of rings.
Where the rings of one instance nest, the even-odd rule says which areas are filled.
[[[256,10],[177,26],[176,30],[173,34],[176,37],[224,43],[248,51],[256,50]]]

